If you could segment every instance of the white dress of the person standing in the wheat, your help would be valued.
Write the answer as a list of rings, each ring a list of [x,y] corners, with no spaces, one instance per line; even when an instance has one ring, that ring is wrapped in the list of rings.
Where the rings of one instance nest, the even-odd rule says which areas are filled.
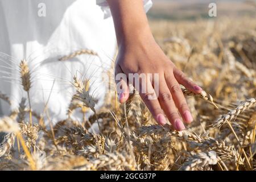
[[[20,86],[19,62],[27,59],[32,74],[32,109],[42,113],[48,101],[53,121],[65,119],[73,75],[88,77],[102,105],[105,85],[101,74],[113,63],[117,50],[108,4],[102,0],[0,0],[0,91],[11,107],[0,101],[0,114],[16,109],[26,93]],[[146,11],[151,1],[144,1]],[[59,61],[80,49],[98,54]],[[6,56],[10,55],[10,57]]]

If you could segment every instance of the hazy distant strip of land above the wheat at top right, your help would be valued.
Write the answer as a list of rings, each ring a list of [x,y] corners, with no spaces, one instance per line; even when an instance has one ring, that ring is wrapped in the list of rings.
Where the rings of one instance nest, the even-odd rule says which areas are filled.
[[[150,19],[196,20],[208,19],[209,3],[216,3],[218,17],[251,16],[256,17],[256,1],[245,0],[152,0],[154,6],[148,12]]]

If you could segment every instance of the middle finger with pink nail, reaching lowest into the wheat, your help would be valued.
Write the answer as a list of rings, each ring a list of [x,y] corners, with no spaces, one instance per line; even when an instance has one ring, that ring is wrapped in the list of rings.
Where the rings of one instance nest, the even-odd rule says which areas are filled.
[[[169,121],[172,126],[174,126],[175,130],[181,131],[185,129],[183,122],[180,119],[180,116],[177,112],[174,100],[172,98],[172,94],[168,89],[166,81],[164,80],[164,76],[160,77],[159,81],[159,102],[162,106],[164,113],[166,113]]]

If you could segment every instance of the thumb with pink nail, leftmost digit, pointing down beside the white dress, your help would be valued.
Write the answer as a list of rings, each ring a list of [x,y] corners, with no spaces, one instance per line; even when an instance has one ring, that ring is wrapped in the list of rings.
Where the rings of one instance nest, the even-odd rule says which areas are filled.
[[[122,69],[117,66],[115,68],[115,84],[117,86],[117,95],[120,103],[125,103],[129,98],[129,84],[127,77]]]

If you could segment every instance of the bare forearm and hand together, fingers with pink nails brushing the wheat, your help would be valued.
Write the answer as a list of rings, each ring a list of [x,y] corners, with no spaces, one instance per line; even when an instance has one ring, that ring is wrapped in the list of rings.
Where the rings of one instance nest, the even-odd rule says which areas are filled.
[[[159,73],[158,99],[151,100],[152,92],[149,91],[139,92],[139,94],[160,125],[166,124],[164,116],[166,115],[176,130],[184,130],[183,121],[190,123],[193,118],[179,84],[194,93],[201,93],[202,89],[177,69],[155,42],[142,0],[107,1],[112,11],[119,49],[115,63],[115,75],[118,73],[126,75],[129,73]],[[118,82],[121,83],[123,90],[118,98],[121,103],[124,103],[129,97],[127,84],[129,80],[118,80]],[[148,88],[144,90],[154,92],[153,82],[154,80],[147,80]],[[143,85],[140,86],[143,87]]]

